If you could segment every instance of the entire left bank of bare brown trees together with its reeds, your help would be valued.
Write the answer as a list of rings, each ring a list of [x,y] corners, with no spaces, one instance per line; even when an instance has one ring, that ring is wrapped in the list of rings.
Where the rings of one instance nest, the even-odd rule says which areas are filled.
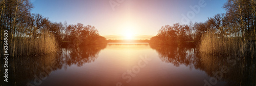
[[[8,31],[8,51],[12,56],[53,53],[60,45],[67,43],[106,43],[106,39],[98,34],[94,26],[51,22],[47,17],[31,13],[32,8],[29,0],[0,1],[1,51],[5,30]]]

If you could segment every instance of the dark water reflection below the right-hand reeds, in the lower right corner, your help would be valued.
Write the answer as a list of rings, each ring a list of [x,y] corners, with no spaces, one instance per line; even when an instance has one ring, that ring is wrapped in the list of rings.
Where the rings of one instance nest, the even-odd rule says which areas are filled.
[[[223,74],[223,77],[218,81],[226,81],[228,85],[256,85],[256,67],[253,59],[237,60],[234,57],[199,55],[201,57],[200,69],[210,77],[215,76],[213,72],[219,72]],[[228,68],[227,73],[222,72],[223,66]]]

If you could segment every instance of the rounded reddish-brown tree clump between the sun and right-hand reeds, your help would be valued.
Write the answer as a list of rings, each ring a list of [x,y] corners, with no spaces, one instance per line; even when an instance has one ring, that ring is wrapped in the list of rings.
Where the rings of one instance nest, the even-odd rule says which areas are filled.
[[[194,35],[191,26],[180,25],[179,23],[173,26],[163,26],[157,36],[151,38],[150,43],[152,44],[163,44],[163,45],[184,45],[187,41],[194,41]]]

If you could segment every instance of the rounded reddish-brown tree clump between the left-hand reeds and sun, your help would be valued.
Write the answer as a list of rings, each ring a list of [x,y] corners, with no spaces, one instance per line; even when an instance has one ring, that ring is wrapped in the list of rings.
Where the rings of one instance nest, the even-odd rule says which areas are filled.
[[[62,44],[91,45],[105,44],[106,38],[100,36],[98,30],[91,25],[84,26],[81,23],[76,25],[65,25],[62,34]]]

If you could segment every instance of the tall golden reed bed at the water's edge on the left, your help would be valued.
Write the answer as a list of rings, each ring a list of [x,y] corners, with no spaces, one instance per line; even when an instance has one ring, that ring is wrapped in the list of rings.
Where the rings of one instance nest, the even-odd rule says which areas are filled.
[[[11,42],[12,56],[35,56],[55,53],[57,42],[50,32],[44,32],[37,37],[17,37]]]

